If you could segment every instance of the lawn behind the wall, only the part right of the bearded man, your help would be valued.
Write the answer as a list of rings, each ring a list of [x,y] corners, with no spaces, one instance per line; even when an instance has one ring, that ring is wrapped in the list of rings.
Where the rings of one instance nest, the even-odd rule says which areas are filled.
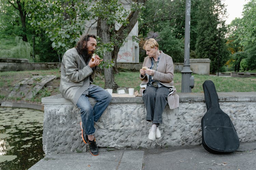
[[[140,89],[139,72],[119,72],[115,75],[115,82],[120,87],[129,87],[136,90]],[[208,75],[192,74],[195,78],[195,85],[192,92],[203,92],[203,82],[205,80],[213,81],[217,92],[245,92],[256,91],[256,77],[252,78],[233,78],[216,77]],[[174,73],[174,86],[177,92],[181,92],[182,73]],[[95,79],[95,84],[104,87],[104,81]]]

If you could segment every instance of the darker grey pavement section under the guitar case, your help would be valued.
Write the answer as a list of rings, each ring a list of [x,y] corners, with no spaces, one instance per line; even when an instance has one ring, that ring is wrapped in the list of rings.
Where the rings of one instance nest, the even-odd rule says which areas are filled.
[[[155,149],[144,153],[145,170],[253,170],[256,142],[243,143],[230,154],[212,154],[202,146],[185,149]]]

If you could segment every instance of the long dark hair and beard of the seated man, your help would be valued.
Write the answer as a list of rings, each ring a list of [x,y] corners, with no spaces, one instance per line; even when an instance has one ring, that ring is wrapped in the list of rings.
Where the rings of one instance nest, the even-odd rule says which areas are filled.
[[[85,36],[83,36],[76,44],[75,48],[78,52],[78,54],[82,55],[85,62],[91,58],[91,56],[88,55],[88,49],[86,47],[87,45],[87,41],[89,41],[90,37],[92,38],[95,38],[96,39],[96,36],[95,35],[92,35],[92,34],[87,34]],[[85,46],[84,46],[84,41],[85,41]]]

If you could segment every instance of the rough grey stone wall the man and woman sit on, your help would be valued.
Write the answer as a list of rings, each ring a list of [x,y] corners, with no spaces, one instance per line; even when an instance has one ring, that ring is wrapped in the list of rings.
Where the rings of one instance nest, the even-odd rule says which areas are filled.
[[[162,137],[147,138],[151,122],[145,121],[142,97],[113,97],[95,124],[99,147],[154,148],[201,144],[201,118],[207,108],[203,93],[178,93],[180,107],[166,106],[159,129]],[[256,92],[218,93],[221,109],[229,115],[241,142],[256,141]],[[95,104],[90,99],[91,104]],[[45,154],[85,151],[79,109],[61,95],[42,98],[44,104],[43,150]]]

